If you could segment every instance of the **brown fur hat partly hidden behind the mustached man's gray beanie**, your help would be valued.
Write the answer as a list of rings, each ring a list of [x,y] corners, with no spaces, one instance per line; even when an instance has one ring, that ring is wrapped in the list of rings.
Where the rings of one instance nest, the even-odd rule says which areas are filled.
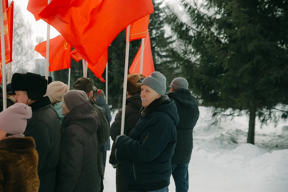
[[[141,83],[145,77],[141,74],[129,74],[127,78],[127,91],[129,94],[141,93]]]

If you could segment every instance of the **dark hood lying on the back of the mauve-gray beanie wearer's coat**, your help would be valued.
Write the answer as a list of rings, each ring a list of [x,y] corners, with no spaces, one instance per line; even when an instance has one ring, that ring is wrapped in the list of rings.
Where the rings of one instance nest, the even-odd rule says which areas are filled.
[[[99,116],[93,109],[90,102],[79,105],[64,118],[63,129],[71,124],[77,124],[83,127],[88,133],[94,134],[99,125]]]

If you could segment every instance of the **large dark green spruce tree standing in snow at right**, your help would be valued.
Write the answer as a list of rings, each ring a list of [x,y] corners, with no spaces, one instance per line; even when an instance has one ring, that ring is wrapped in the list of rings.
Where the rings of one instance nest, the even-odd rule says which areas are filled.
[[[181,2],[189,18],[185,23],[167,8],[166,21],[187,48],[182,69],[214,115],[249,115],[247,142],[254,144],[257,116],[262,123],[287,117],[276,105],[288,104],[288,2],[189,3]]]

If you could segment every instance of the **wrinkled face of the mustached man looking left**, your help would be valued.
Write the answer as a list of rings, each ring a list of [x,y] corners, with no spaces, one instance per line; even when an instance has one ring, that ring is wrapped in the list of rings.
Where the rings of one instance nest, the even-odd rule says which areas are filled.
[[[149,104],[151,104],[156,99],[160,98],[161,95],[157,93],[154,89],[147,85],[141,86],[141,100],[142,106],[146,108]]]

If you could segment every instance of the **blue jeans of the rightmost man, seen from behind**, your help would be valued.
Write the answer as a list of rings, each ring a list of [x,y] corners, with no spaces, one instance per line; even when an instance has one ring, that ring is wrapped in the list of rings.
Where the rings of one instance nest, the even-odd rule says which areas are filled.
[[[172,176],[176,186],[176,192],[188,192],[189,174],[187,164],[172,164]]]

